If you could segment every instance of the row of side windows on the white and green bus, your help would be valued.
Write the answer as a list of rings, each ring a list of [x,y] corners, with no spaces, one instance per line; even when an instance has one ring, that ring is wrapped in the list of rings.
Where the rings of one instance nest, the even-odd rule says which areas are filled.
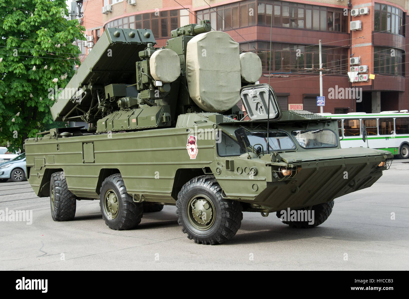
[[[362,125],[366,126],[366,132],[369,136],[373,135],[391,135],[395,132],[397,135],[409,134],[409,117],[397,117],[395,121],[392,117],[369,118],[369,119],[347,119],[344,120],[344,136],[361,135]],[[338,120],[339,136],[342,136],[342,120]]]

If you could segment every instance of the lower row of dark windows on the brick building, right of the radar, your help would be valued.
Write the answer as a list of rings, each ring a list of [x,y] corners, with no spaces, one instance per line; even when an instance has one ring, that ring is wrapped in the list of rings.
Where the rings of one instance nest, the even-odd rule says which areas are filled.
[[[270,43],[250,42],[240,44],[243,51],[256,51],[261,59],[263,72],[270,69]],[[272,43],[271,70],[274,73],[290,73],[319,68],[319,47],[300,44]],[[348,49],[322,47],[323,67],[326,73],[340,74],[348,69]]]

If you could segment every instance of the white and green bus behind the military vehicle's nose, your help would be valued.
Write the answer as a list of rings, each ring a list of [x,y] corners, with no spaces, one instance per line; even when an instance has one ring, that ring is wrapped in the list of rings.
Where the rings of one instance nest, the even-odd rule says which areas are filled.
[[[370,148],[390,151],[393,155],[399,155],[401,159],[409,157],[409,113],[407,110],[380,113],[322,113],[321,115],[338,120],[342,148],[366,147],[366,142],[362,140],[362,127],[365,125]]]

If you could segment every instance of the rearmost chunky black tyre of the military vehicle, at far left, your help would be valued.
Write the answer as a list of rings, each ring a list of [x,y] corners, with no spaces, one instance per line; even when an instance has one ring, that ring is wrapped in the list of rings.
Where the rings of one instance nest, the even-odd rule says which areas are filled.
[[[54,189],[54,208],[51,194]],[[70,221],[74,219],[76,210],[76,196],[68,190],[64,172],[59,171],[51,175],[50,180],[50,208],[54,221]]]

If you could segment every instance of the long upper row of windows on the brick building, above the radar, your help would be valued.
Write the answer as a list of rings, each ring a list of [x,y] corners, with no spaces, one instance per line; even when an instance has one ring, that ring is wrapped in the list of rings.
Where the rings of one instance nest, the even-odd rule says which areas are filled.
[[[273,0],[240,1],[200,10],[197,22],[201,20],[210,20],[212,28],[220,31],[256,24],[271,26],[271,22],[275,27],[348,31],[348,16],[342,9]]]

